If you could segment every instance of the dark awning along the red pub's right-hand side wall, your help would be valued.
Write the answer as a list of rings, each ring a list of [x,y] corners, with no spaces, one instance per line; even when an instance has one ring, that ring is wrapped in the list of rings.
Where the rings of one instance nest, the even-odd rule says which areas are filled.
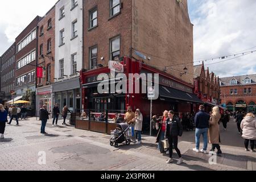
[[[195,94],[183,92],[181,90],[176,90],[170,87],[160,86],[160,85],[159,85],[159,97],[172,98],[172,99],[187,101],[187,102],[196,102],[200,104],[204,103],[199,98],[197,98]]]

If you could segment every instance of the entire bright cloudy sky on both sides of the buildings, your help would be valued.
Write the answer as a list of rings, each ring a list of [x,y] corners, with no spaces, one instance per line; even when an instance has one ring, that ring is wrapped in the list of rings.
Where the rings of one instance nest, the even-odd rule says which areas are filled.
[[[1,1],[0,55],[36,15],[44,16],[56,1]],[[212,57],[256,50],[255,0],[188,0],[188,8],[194,25],[195,65]],[[256,74],[256,52],[207,65],[218,61],[223,60],[204,61],[204,64],[219,77]]]

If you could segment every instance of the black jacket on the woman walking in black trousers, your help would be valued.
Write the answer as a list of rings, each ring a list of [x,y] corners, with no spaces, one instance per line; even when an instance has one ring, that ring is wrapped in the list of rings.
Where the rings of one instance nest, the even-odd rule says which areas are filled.
[[[177,117],[174,117],[172,121],[170,121],[170,118],[167,118],[166,132],[164,133],[164,138],[177,137],[177,136],[181,137],[182,133],[183,133],[183,127],[181,125],[180,119]]]

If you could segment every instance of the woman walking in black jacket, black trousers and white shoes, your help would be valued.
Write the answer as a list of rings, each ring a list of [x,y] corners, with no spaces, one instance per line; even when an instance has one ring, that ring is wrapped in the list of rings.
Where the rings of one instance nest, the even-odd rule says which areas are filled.
[[[181,158],[180,150],[177,147],[178,143],[178,136],[181,137],[183,133],[183,127],[181,125],[181,122],[179,118],[175,117],[174,111],[168,112],[168,118],[166,120],[166,131],[164,133],[164,139],[168,139],[169,143],[169,159],[166,161],[167,164],[172,163],[174,160],[172,160],[172,145],[174,145],[174,148],[177,152],[177,155],[179,156],[179,160],[177,164],[181,164],[183,162],[183,159]]]

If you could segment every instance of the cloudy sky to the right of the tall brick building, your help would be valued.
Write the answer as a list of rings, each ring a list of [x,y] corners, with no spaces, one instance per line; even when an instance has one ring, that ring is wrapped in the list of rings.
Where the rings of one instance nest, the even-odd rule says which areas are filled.
[[[190,13],[194,24],[195,59],[256,49],[255,0],[208,0],[200,3],[196,0],[191,3],[199,5]],[[251,47],[254,48],[248,49]],[[221,60],[207,61],[205,64],[217,61]],[[210,71],[220,77],[255,74],[255,68],[256,52],[224,63],[209,65]]]

